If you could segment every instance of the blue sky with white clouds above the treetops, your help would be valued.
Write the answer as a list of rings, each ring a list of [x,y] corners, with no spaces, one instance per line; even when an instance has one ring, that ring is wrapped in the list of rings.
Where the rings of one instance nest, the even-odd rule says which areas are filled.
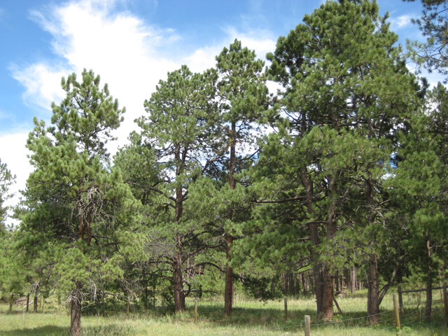
[[[167,71],[187,64],[193,71],[214,66],[214,57],[239,38],[265,58],[321,0],[0,0],[0,158],[25,188],[31,167],[25,141],[32,119],[49,120],[50,103],[63,97],[62,76],[93,69],[126,106],[114,151],[125,144],[132,120],[144,113]],[[391,29],[421,39],[411,18],[421,3],[379,0]],[[437,75],[430,76],[437,83]]]

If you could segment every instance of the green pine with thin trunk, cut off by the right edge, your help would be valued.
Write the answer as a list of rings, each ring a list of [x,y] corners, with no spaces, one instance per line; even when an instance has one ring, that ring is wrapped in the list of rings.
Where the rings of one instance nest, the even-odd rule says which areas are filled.
[[[400,137],[396,169],[388,179],[395,202],[407,218],[409,234],[404,244],[409,258],[426,279],[426,322],[430,321],[433,306],[435,271],[446,262],[447,104],[448,91],[439,83],[428,92],[426,109],[409,119],[408,129]]]

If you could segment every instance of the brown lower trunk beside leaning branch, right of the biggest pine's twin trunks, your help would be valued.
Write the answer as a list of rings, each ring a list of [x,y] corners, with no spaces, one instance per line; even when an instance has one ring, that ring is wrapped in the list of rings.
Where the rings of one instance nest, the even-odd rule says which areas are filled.
[[[370,324],[379,323],[379,279],[378,258],[375,253],[370,253],[369,273],[367,275],[367,315]]]

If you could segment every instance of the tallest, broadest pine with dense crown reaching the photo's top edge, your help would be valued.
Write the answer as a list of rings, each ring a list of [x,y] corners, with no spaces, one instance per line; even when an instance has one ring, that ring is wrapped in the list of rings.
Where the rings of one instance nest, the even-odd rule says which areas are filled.
[[[419,99],[393,47],[397,36],[379,17],[377,3],[328,1],[303,21],[279,38],[268,58],[272,78],[284,88],[288,141],[297,155],[297,179],[290,181],[300,183],[297,192],[304,197],[302,224],[312,242],[318,315],[331,320],[337,248],[332,241],[350,223],[343,209],[358,200],[366,215],[360,225],[376,223],[394,132]],[[379,320],[380,303],[375,246],[372,239],[367,304],[372,323]]]

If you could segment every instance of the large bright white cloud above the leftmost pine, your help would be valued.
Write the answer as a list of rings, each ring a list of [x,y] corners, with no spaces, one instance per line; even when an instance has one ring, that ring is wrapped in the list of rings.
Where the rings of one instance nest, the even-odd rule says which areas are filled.
[[[125,123],[116,132],[120,146],[135,128],[134,119],[144,114],[143,103],[151,96],[160,78],[178,64],[160,55],[158,47],[179,39],[172,29],[145,25],[131,13],[113,13],[116,1],[71,1],[63,6],[33,11],[31,18],[53,36],[52,48],[66,64],[54,71],[50,64],[33,64],[14,71],[26,91],[24,98],[49,109],[50,102],[63,96],[62,76],[93,69],[109,84],[113,97],[126,106]],[[111,144],[111,149],[118,144]]]

